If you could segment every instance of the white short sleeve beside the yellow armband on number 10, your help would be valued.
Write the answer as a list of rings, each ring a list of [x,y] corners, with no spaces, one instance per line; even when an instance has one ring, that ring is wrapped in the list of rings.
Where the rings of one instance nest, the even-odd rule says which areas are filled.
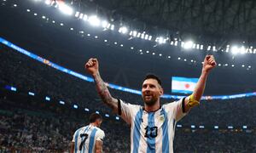
[[[183,116],[186,116],[187,113],[184,112],[184,103],[185,103],[185,97],[183,99],[179,99],[177,101],[174,101],[172,103],[169,103],[165,105],[165,110],[167,112],[170,112],[170,115],[172,118],[174,118],[176,121],[179,121],[183,118]]]

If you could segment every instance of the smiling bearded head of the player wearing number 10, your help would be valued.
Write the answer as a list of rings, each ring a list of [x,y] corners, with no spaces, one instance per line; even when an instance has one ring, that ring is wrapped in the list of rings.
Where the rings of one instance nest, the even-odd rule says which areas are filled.
[[[164,94],[160,78],[154,74],[148,74],[143,80],[142,93],[145,105],[152,106],[160,101],[160,96]]]

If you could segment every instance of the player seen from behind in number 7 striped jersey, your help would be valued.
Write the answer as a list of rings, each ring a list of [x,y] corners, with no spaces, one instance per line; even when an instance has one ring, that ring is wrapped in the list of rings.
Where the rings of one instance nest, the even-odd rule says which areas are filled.
[[[99,127],[102,116],[96,113],[90,115],[90,124],[80,127],[74,134],[71,142],[72,153],[102,153],[105,133]]]

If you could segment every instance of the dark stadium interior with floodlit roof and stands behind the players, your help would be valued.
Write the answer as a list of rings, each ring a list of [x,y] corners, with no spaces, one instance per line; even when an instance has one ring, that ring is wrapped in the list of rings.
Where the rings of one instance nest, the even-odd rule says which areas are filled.
[[[213,54],[218,65],[205,95],[242,95],[202,100],[177,123],[174,151],[256,151],[253,0],[65,2],[72,14],[63,14],[55,1],[0,0],[0,38],[86,77],[84,63],[96,57],[103,80],[125,88],[140,90],[143,77],[153,72],[165,94],[173,94],[172,77],[199,77],[205,55]],[[80,19],[82,13],[88,19]],[[94,14],[107,25],[90,23]],[[152,38],[142,37],[143,31]],[[188,46],[189,40],[195,45]],[[129,126],[103,105],[95,84],[56,70],[48,60],[42,63],[0,44],[0,152],[68,152],[75,129],[96,111],[104,119],[103,150],[130,152]],[[143,105],[138,94],[110,92]]]

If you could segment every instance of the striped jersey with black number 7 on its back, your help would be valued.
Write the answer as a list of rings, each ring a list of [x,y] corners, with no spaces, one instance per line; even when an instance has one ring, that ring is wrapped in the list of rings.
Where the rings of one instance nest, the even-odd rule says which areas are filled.
[[[94,153],[96,140],[103,141],[104,137],[105,133],[99,127],[88,125],[79,128],[73,134],[74,153]]]

